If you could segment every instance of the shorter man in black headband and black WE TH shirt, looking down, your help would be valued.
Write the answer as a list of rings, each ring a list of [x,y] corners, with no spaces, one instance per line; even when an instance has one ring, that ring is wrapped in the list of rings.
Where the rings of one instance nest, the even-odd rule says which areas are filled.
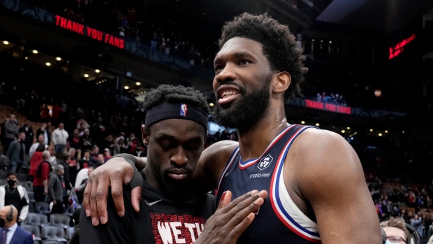
[[[195,89],[170,85],[161,85],[147,96],[142,134],[148,164],[142,172],[141,211],[133,211],[131,189],[125,189],[123,217],[117,215],[111,199],[107,224],[94,227],[91,218],[81,215],[80,243],[234,243],[254,219],[266,192],[252,191],[230,204],[227,196],[210,218],[215,196],[196,194],[189,185],[205,143],[209,110],[205,97]],[[227,224],[226,219],[232,221]],[[217,229],[204,231],[207,220]]]

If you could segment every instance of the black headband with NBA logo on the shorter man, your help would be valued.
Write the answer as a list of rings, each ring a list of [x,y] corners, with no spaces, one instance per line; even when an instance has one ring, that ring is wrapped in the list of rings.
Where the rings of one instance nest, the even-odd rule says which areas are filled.
[[[161,120],[183,119],[192,120],[203,125],[207,131],[207,113],[205,110],[186,103],[161,103],[147,111],[146,127]]]

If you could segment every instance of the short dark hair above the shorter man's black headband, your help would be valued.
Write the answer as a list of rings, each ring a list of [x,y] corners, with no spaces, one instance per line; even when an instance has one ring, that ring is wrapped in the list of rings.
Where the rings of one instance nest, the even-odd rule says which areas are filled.
[[[210,113],[205,96],[193,87],[160,85],[147,94],[144,108],[148,111],[161,103],[188,103],[188,105],[204,110],[208,115]],[[146,127],[146,132],[150,134],[149,127]]]

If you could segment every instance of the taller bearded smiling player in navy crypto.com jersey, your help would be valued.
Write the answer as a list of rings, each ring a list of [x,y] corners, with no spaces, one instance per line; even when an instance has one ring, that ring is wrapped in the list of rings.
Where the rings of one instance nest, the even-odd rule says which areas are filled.
[[[266,14],[244,13],[225,24],[219,48],[213,116],[237,128],[239,143],[207,148],[196,177],[200,185],[218,187],[217,201],[228,189],[235,197],[251,189],[270,193],[237,243],[381,243],[379,219],[351,145],[331,131],[287,122],[285,101],[300,94],[307,72],[288,27]],[[129,181],[129,164],[117,159],[105,170],[110,165],[130,172],[110,177],[111,185]],[[91,180],[108,175],[95,171]],[[105,217],[104,197],[90,196],[90,188],[88,215]],[[105,196],[108,187],[103,188]],[[120,198],[115,204],[124,208]]]

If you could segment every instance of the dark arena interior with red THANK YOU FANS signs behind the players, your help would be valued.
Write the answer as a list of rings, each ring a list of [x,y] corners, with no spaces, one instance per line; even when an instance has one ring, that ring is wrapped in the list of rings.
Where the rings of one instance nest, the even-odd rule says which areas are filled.
[[[86,150],[95,162],[99,153],[105,160],[118,153],[146,157],[140,125],[147,93],[161,84],[195,87],[213,110],[221,27],[248,12],[288,25],[304,50],[309,71],[302,96],[285,104],[288,123],[342,136],[360,158],[379,220],[403,217],[410,224],[421,215],[420,243],[433,235],[433,1],[1,0],[0,5],[0,185],[7,185],[12,169],[7,149],[14,138],[5,130],[10,115],[18,128],[29,125],[34,131],[26,138],[24,163],[14,168],[29,194],[22,226],[31,229],[30,215],[46,215],[45,226],[54,226],[47,202],[34,199],[29,175],[29,149],[39,134],[50,135],[59,124],[70,137],[76,132],[71,139],[76,164]],[[61,160],[52,139],[45,139],[50,160]],[[210,116],[205,147],[221,140],[237,141],[237,131]],[[61,150],[70,148],[68,143]],[[78,171],[68,174],[71,193],[62,213],[68,218],[59,243],[71,238],[82,204],[75,194]],[[50,239],[41,225],[36,229],[34,243]]]

